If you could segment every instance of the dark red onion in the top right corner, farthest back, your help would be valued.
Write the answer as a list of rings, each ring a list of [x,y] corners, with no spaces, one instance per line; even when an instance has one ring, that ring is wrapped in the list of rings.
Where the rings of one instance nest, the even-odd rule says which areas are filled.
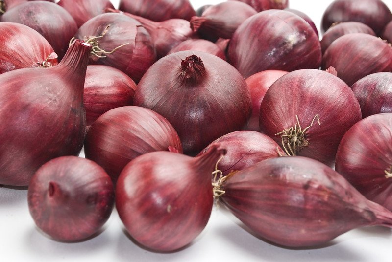
[[[321,30],[325,32],[335,22],[355,21],[379,34],[391,20],[391,11],[382,0],[335,0],[324,12]]]

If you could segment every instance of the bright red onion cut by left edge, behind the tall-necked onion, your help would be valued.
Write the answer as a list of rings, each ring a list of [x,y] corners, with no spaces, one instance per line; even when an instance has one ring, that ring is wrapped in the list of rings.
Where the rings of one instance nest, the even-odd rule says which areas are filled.
[[[58,64],[56,58],[48,59],[54,50],[34,29],[20,23],[0,22],[0,31],[0,74]]]

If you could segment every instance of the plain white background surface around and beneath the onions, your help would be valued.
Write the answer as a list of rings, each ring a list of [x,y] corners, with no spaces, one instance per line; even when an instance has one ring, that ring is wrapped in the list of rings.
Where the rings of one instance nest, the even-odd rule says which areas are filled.
[[[118,1],[113,2],[117,6]],[[191,2],[198,8],[222,1]],[[330,2],[290,0],[290,7],[308,14],[319,27],[322,13]],[[385,2],[392,7],[392,0]],[[223,208],[213,211],[206,229],[190,246],[175,253],[153,253],[133,243],[123,232],[116,211],[96,238],[60,243],[37,230],[28,212],[26,196],[25,190],[0,188],[1,262],[392,262],[389,228],[357,229],[318,248],[286,249],[249,234]]]

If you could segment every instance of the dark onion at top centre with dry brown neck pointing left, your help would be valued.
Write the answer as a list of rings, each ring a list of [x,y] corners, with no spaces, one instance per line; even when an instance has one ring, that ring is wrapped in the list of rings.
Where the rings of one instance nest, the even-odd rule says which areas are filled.
[[[226,1],[205,10],[201,17],[192,17],[191,28],[213,42],[218,38],[230,39],[235,30],[249,17],[257,14],[249,5]]]

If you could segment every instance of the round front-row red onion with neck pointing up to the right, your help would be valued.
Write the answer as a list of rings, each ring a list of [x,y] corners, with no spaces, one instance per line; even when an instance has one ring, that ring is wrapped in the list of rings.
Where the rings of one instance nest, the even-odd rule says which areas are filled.
[[[131,161],[116,187],[116,208],[132,238],[155,251],[186,246],[211,215],[211,172],[224,149],[189,157],[154,152]]]

